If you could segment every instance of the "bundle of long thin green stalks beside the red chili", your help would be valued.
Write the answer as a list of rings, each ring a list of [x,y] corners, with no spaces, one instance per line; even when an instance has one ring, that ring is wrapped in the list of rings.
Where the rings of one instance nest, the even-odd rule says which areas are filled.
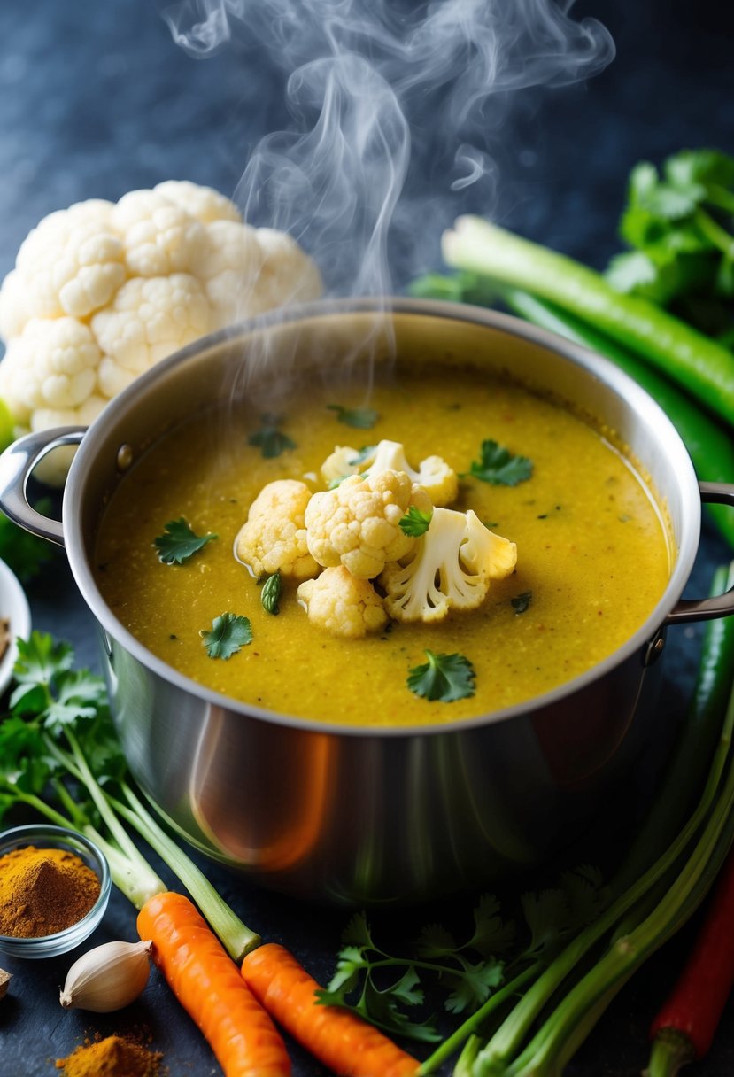
[[[731,573],[730,567],[730,579]],[[723,578],[720,570],[717,581],[721,583]],[[722,684],[726,685],[729,695],[697,806],[662,855],[618,894],[607,910],[583,928],[539,975],[489,1041],[481,1048],[476,1036],[467,1041],[455,1069],[457,1077],[464,1074],[471,1077],[561,1074],[617,992],[639,965],[687,922],[708,893],[734,839],[732,668],[720,666],[717,677],[709,679],[706,674],[710,672],[707,666],[710,653],[709,637],[700,682],[708,686],[712,700],[720,701]],[[703,687],[700,690],[703,691]],[[684,736],[682,742],[687,743]],[[668,773],[674,775],[676,770],[674,759]],[[672,783],[673,779],[668,781]],[[666,787],[671,788],[664,785],[664,789]],[[661,821],[657,814],[655,819]],[[635,862],[638,856],[639,850],[635,848]],[[650,903],[649,895],[657,895],[663,880],[665,893]],[[598,946],[604,939],[607,940],[606,949],[599,954]],[[537,1027],[538,1019],[559,997],[563,984],[578,975],[579,963],[592,949],[593,964],[560,997]],[[468,1033],[474,1033],[475,1027]],[[456,1039],[461,1039],[461,1030]]]

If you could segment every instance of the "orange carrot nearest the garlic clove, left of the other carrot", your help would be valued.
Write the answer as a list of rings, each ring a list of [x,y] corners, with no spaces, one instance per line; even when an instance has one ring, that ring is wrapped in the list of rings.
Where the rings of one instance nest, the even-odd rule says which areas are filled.
[[[225,1077],[287,1077],[291,1062],[272,1021],[196,907],[183,894],[149,898],[138,932],[196,1022]]]

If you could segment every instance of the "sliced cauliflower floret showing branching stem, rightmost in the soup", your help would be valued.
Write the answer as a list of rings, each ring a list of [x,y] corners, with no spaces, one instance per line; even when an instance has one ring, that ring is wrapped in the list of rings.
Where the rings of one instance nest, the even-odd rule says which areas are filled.
[[[395,620],[442,620],[450,610],[476,610],[492,579],[508,576],[517,546],[485,528],[469,509],[436,508],[412,558],[380,576],[385,609]]]

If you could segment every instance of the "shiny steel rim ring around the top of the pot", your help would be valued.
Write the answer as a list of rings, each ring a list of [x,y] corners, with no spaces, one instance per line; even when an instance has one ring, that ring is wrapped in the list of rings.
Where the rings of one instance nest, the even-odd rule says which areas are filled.
[[[682,514],[680,534],[677,538],[677,549],[673,550],[675,562],[672,568],[667,586],[654,609],[650,612],[645,621],[631,635],[625,643],[613,651],[606,658],[592,666],[591,669],[579,676],[566,681],[550,691],[539,696],[534,696],[521,703],[511,707],[500,708],[496,711],[482,712],[474,717],[452,719],[450,712],[446,721],[434,721],[421,725],[410,726],[375,726],[354,725],[343,722],[327,722],[315,718],[299,717],[280,711],[270,711],[266,708],[245,703],[230,696],[216,693],[206,685],[194,681],[180,673],[163,659],[157,658],[152,652],[141,644],[125,626],[117,620],[101,592],[99,591],[93,573],[89,569],[86,557],[83,555],[84,536],[81,528],[81,513],[77,506],[81,504],[85,471],[87,463],[91,464],[96,453],[96,440],[99,431],[104,430],[105,423],[114,417],[122,408],[125,408],[141,393],[144,393],[149,383],[155,382],[164,370],[178,365],[182,361],[196,355],[202,350],[207,350],[218,345],[225,345],[240,337],[257,333],[260,330],[268,330],[272,326],[307,321],[312,318],[339,317],[343,318],[350,313],[375,313],[391,317],[392,314],[427,314],[430,317],[446,318],[457,322],[471,322],[486,325],[491,328],[498,328],[508,335],[530,340],[545,347],[550,351],[561,354],[570,360],[584,370],[607,384],[618,396],[621,396],[633,408],[645,409],[654,417],[655,428],[663,428],[665,432],[666,453],[673,456],[674,472],[677,475],[681,490],[688,493],[686,512]],[[101,435],[100,435],[101,436]],[[669,444],[668,444],[669,443]],[[690,502],[690,504],[688,503]],[[350,736],[361,738],[414,738],[423,736],[439,736],[446,733],[460,732],[463,730],[477,729],[499,722],[507,722],[531,712],[541,711],[546,707],[557,703],[566,696],[585,688],[593,682],[602,680],[611,673],[618,666],[631,658],[636,653],[645,648],[651,640],[664,627],[665,619],[680,599],[683,588],[691,574],[695,561],[701,531],[701,496],[698,482],[691,459],[680,438],[680,435],[673,422],[660,407],[658,402],[641,388],[633,378],[616,366],[610,360],[598,355],[590,349],[567,340],[547,330],[539,328],[528,322],[524,322],[512,314],[492,310],[484,307],[476,307],[469,304],[451,303],[433,299],[413,299],[401,296],[383,296],[378,298],[343,298],[324,299],[309,304],[293,306],[287,309],[278,309],[249,318],[224,330],[218,330],[207,336],[187,345],[173,354],[157,363],[150,370],[136,378],[135,382],[123,390],[105,406],[102,414],[95,419],[85,432],[76,450],[74,459],[69,470],[69,476],[63,491],[62,501],[62,526],[65,534],[65,546],[67,557],[71,567],[76,585],[84,598],[85,603],[99,621],[102,630],[113,637],[121,646],[129,652],[138,661],[146,667],[152,673],[161,676],[173,686],[189,693],[197,698],[208,702],[213,707],[224,708],[234,713],[240,713],[244,717],[256,718],[258,721],[273,723],[282,726],[290,726],[302,731],[326,733],[330,736]],[[640,659],[641,663],[641,659]]]

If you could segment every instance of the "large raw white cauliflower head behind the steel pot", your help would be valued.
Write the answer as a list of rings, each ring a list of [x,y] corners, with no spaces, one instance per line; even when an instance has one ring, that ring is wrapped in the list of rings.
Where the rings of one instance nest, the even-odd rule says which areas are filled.
[[[185,180],[50,213],[0,288],[0,395],[15,433],[47,429],[59,410],[84,425],[171,352],[321,288],[290,236],[250,227],[224,195]]]

